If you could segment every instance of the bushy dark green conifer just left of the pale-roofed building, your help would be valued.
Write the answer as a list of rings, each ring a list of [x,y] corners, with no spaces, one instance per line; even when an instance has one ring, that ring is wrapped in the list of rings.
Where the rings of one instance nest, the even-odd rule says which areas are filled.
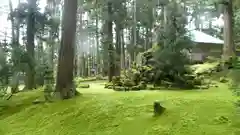
[[[186,87],[188,84],[185,83],[185,75],[190,72],[185,67],[190,62],[186,51],[193,44],[186,35],[187,13],[176,2],[169,3],[164,8],[166,8],[165,21],[167,23],[165,23],[165,28],[158,32],[159,48],[154,52],[155,81],[169,81],[178,87]]]

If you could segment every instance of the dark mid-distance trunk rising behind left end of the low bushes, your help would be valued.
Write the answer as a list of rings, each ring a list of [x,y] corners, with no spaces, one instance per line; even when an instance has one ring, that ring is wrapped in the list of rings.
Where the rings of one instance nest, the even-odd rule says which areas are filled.
[[[114,76],[114,48],[113,48],[113,33],[112,33],[112,3],[108,2],[108,20],[107,20],[107,44],[108,44],[108,56],[109,56],[109,69],[108,69],[108,81],[112,81]]]

